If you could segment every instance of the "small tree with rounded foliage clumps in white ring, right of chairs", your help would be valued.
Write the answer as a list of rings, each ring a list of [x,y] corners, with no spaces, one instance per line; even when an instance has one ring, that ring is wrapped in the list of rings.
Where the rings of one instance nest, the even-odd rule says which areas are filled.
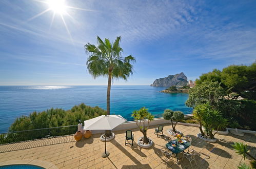
[[[170,120],[171,121],[172,129],[169,129],[167,131],[170,135],[172,135],[172,136],[176,136],[176,134],[181,134],[182,135],[182,132],[179,131],[179,130],[176,130],[175,127],[176,127],[176,124],[178,123],[179,120],[183,120],[184,119],[183,112],[181,112],[181,111],[174,111],[173,112],[170,109],[166,109],[164,111],[163,118],[165,120]],[[176,121],[176,122],[173,123],[173,121]]]

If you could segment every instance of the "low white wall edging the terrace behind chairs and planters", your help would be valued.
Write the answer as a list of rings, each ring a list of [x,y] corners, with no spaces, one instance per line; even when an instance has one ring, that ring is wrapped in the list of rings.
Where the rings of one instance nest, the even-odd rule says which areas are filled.
[[[191,114],[185,115],[185,119],[192,117]],[[150,126],[151,125],[159,125],[159,124],[164,124],[164,123],[170,123],[170,120],[165,120],[163,117],[160,118],[154,118],[154,120],[152,120],[150,122]],[[178,122],[179,124],[180,122]],[[120,124],[119,126],[116,126],[116,128],[114,128],[112,131],[120,131],[120,130],[128,130],[128,129],[134,129],[137,128],[138,126],[136,125],[135,121],[127,121],[124,122],[122,124]],[[105,130],[93,130],[92,134],[96,134],[96,133],[105,133]]]

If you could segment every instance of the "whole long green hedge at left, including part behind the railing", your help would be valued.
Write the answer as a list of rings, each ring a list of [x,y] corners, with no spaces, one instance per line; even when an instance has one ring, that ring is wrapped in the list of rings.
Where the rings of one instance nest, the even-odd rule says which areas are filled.
[[[71,108],[71,110],[67,111],[52,108],[43,112],[33,112],[29,116],[17,118],[11,124],[9,129],[10,132],[25,132],[15,132],[8,133],[7,135],[0,135],[0,144],[74,134],[77,131],[76,124],[79,119],[88,120],[104,114],[106,114],[105,110],[99,107],[92,108],[84,103],[75,105],[73,108]],[[71,126],[55,128],[66,125]]]

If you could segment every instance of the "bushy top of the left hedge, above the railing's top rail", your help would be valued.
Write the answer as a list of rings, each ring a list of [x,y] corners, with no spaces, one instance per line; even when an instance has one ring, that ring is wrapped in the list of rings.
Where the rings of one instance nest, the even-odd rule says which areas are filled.
[[[88,120],[106,111],[99,107],[89,107],[84,103],[75,105],[71,110],[49,109],[43,112],[33,112],[29,116],[17,118],[10,126],[9,131],[24,131],[57,126],[76,125],[79,119]]]

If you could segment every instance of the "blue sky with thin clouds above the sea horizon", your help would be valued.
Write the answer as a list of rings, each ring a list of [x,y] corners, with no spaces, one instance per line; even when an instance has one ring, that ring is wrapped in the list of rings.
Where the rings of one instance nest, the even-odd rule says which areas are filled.
[[[43,0],[42,0],[43,1]],[[86,71],[84,45],[121,36],[135,73],[113,85],[150,85],[184,72],[256,59],[256,1],[65,1],[68,14],[41,1],[0,1],[0,85],[107,85]]]

